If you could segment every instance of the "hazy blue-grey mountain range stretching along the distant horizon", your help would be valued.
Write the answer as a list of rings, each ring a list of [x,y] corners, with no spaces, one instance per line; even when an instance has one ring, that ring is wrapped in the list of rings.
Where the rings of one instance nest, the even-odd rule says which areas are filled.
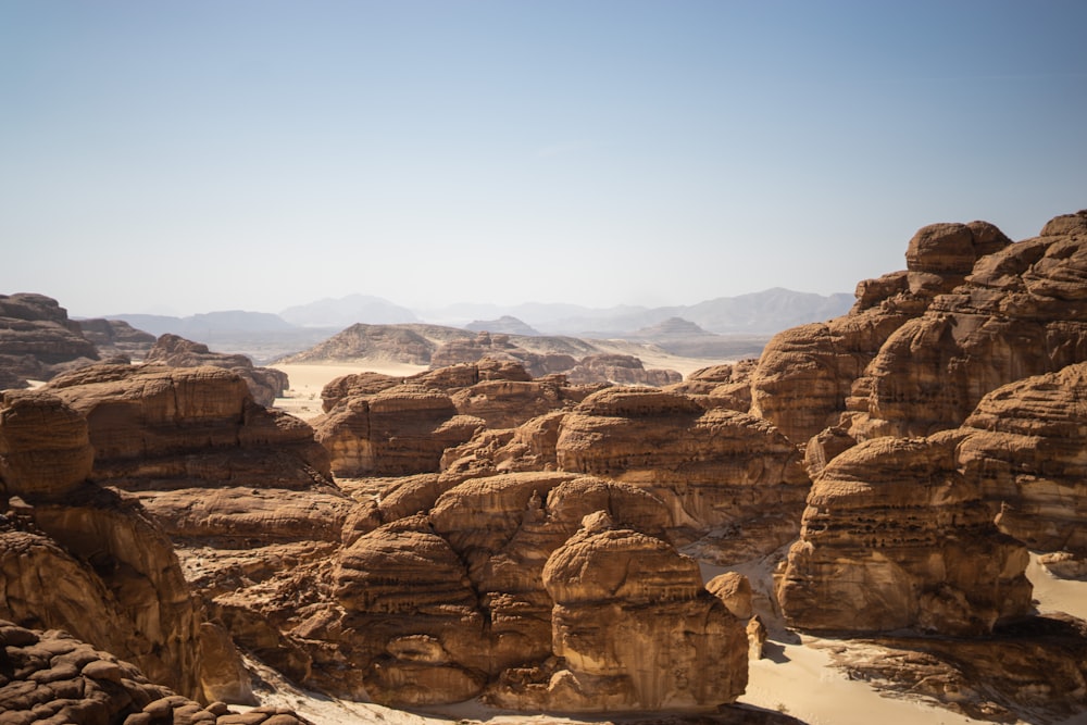
[[[154,336],[171,333],[218,350],[243,352],[260,364],[307,349],[362,323],[428,323],[513,335],[571,336],[653,342],[674,354],[757,354],[778,330],[845,314],[853,296],[797,292],[776,287],[720,297],[692,305],[608,309],[576,304],[455,304],[411,310],[379,297],[350,295],[296,305],[278,314],[230,310],[174,317],[140,313],[105,315]],[[742,338],[742,339],[738,339]],[[737,347],[737,343],[741,343]]]

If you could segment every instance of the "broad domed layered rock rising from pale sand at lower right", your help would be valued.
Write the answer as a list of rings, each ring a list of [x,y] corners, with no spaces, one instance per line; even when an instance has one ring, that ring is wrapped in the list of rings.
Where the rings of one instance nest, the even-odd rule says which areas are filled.
[[[778,582],[790,625],[961,636],[1027,613],[1026,548],[957,470],[962,438],[877,438],[823,470]]]

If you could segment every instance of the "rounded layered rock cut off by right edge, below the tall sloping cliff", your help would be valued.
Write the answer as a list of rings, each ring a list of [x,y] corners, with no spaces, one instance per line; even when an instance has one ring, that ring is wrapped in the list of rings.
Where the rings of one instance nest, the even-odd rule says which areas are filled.
[[[1034,550],[1087,557],[1087,363],[997,388],[961,433],[959,467],[1000,530]]]

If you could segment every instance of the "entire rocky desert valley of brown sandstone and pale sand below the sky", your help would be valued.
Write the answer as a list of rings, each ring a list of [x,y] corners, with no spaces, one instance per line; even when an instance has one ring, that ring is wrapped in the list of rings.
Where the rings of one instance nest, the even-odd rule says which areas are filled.
[[[0,723],[1087,722],[1087,211],[903,247],[765,337],[4,290]]]

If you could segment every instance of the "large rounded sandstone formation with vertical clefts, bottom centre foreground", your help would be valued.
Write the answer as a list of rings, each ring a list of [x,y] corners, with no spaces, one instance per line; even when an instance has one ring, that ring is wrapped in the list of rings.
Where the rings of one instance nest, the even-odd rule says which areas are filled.
[[[421,492],[438,483],[415,480],[418,486],[412,490]],[[395,515],[393,510],[386,511],[387,516]],[[615,571],[645,560],[641,543],[651,542],[648,550],[653,557],[675,559],[684,572],[676,574],[682,583],[673,583],[676,565],[655,577],[647,567],[645,580],[636,585],[632,579],[619,599],[598,592],[605,611],[627,612],[645,633],[644,640],[629,643],[630,657],[624,654],[623,663],[603,680],[577,667],[560,666],[564,660],[554,650],[555,600],[544,574],[548,557],[594,512],[607,512],[600,515],[619,522],[626,527],[623,536],[636,540],[613,562]],[[739,691],[732,688],[742,689],[746,680],[747,636],[738,620],[702,589],[697,565],[653,538],[666,536],[669,523],[664,504],[632,485],[538,472],[467,479],[440,493],[428,513],[386,524],[340,554],[334,580],[342,614],[336,615],[340,621],[336,626],[347,642],[349,666],[363,673],[372,697],[399,705],[486,693],[505,707],[585,710],[602,707],[599,700],[592,704],[599,692],[590,685],[605,680],[610,695],[603,704],[611,709],[651,707],[654,698],[682,708],[729,701]],[[579,550],[591,555],[592,548],[589,543]],[[555,586],[560,578],[554,577]],[[586,586],[595,578],[587,577]],[[665,617],[654,625],[655,614],[645,610],[638,597],[655,601],[661,610],[655,614],[667,610],[679,620]],[[570,616],[589,626],[596,607],[586,605]],[[690,633],[687,639],[669,634],[677,621]],[[654,645],[658,635],[663,641]],[[722,664],[696,673],[690,663],[703,646],[713,648]],[[616,643],[612,649],[623,647]],[[637,647],[642,654],[655,652],[653,664],[635,662]],[[598,654],[603,657],[603,651]],[[658,665],[664,672],[678,672],[675,682],[672,675],[650,674]],[[550,675],[560,670],[564,672],[559,679],[552,679]],[[559,680],[563,683],[559,689],[549,689],[549,682]],[[582,685],[575,686],[578,682]]]

